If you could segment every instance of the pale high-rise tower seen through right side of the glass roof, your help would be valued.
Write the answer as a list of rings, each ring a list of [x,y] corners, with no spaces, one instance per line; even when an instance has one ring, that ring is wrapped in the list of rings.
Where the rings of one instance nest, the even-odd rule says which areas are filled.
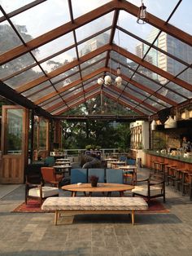
[[[158,29],[153,29],[151,33],[148,35],[148,37],[146,38],[146,41],[153,42],[158,33],[159,33]],[[172,36],[170,36],[168,33],[161,32],[159,35],[159,38],[155,41],[154,45],[159,47],[159,49],[162,49],[168,52],[169,54],[176,56],[181,60],[184,60],[188,64],[192,63],[191,47],[186,45],[184,42],[177,40],[177,38],[172,38]],[[143,58],[148,48],[149,46],[147,46],[144,43],[137,45],[136,46],[137,56],[139,56],[140,58]],[[164,55],[163,53],[155,50],[154,48],[151,48],[151,50],[146,55],[145,60],[163,69],[164,71],[171,73],[174,76],[180,73],[181,70],[183,70],[186,67],[184,64],[181,64],[177,60],[170,58],[168,55]],[[145,73],[147,76],[153,79],[158,79],[161,84],[165,84],[166,82],[168,82],[168,80],[165,77],[161,77],[148,70],[146,71],[145,68],[143,68],[142,73]],[[179,77],[183,79],[185,82],[191,83],[192,81],[191,68],[188,68],[184,73],[181,73]]]

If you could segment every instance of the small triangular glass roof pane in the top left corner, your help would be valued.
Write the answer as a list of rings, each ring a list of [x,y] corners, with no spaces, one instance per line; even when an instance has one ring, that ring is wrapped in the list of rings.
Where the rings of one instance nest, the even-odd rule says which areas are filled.
[[[13,0],[1,0],[0,3],[2,8],[7,12],[15,11],[20,7],[24,7],[26,4],[33,2],[33,0],[22,0],[22,1],[13,1]]]

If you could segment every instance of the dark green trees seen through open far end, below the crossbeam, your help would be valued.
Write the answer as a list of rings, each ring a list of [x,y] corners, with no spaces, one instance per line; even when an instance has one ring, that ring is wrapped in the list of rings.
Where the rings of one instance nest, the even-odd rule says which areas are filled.
[[[128,123],[111,121],[63,121],[63,147],[85,148],[88,144],[101,148],[129,148]]]

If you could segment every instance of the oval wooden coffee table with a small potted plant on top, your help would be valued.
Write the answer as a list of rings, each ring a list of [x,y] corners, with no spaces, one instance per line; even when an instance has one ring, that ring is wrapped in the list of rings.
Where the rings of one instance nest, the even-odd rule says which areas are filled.
[[[72,196],[76,196],[76,192],[88,192],[89,196],[92,192],[120,192],[120,196],[124,195],[124,191],[132,190],[134,187],[131,185],[120,183],[98,183],[97,187],[91,187],[90,183],[71,184],[63,186],[62,189],[71,191]]]

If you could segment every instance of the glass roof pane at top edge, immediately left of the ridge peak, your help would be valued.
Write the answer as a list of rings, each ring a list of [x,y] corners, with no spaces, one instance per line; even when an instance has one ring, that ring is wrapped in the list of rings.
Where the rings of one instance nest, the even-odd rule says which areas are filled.
[[[110,1],[111,0],[72,0],[73,17],[76,19],[77,17],[84,15],[85,13],[92,11],[95,8],[103,6],[103,4]]]

